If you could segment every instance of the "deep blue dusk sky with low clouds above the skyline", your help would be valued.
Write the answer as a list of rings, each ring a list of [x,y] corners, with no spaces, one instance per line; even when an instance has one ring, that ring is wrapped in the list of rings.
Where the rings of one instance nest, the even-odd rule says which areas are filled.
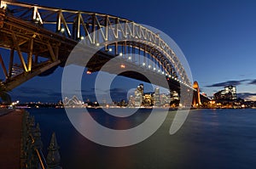
[[[112,14],[153,26],[177,42],[189,62],[193,80],[199,82],[201,91],[212,96],[226,85],[236,85],[239,96],[256,100],[254,0],[21,2]],[[11,95],[22,102],[58,101],[61,99],[61,73],[62,68],[59,68],[50,76],[35,77],[15,88]],[[116,90],[122,92],[119,88]]]

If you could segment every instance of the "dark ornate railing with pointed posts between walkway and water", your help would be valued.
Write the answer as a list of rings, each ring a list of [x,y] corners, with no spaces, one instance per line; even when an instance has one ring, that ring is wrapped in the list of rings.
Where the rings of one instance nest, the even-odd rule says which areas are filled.
[[[35,119],[25,111],[22,119],[22,132],[20,144],[20,168],[61,169],[59,147],[56,142],[55,133],[49,144],[49,154],[45,159],[41,141],[39,124],[35,126]]]

